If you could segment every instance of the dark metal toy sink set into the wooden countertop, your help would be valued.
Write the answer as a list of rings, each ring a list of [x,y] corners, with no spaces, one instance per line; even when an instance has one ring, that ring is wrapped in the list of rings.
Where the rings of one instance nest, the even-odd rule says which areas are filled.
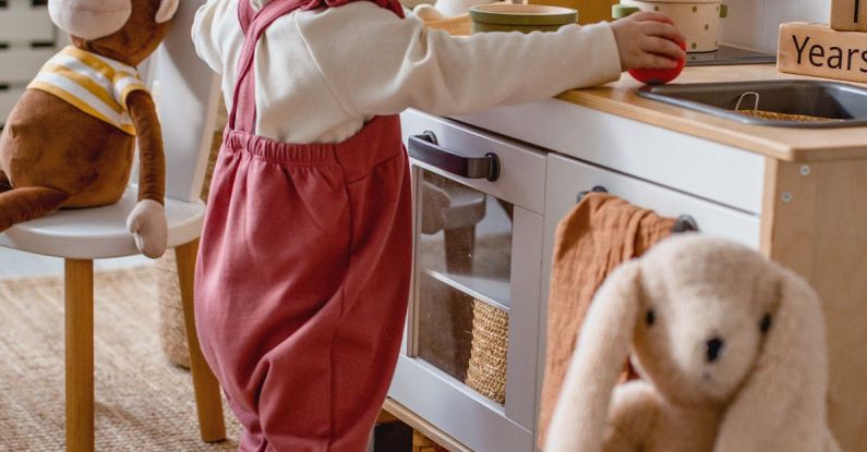
[[[733,121],[780,127],[867,126],[867,89],[836,82],[756,81],[643,86],[638,96]],[[742,111],[742,112],[738,112]],[[796,121],[744,114],[755,110],[826,119]],[[773,115],[773,114],[771,114]]]

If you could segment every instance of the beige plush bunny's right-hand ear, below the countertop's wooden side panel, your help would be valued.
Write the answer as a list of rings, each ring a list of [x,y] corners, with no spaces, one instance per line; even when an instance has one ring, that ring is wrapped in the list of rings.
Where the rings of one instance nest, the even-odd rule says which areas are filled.
[[[828,439],[820,302],[804,280],[781,267],[776,271],[776,310],[756,319],[767,338],[726,411],[714,452],[822,451]]]

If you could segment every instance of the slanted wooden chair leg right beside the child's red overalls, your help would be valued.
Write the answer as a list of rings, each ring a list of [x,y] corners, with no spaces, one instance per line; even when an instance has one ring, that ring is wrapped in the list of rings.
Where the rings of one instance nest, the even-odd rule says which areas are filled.
[[[174,248],[178,260],[178,279],[181,285],[183,320],[186,329],[186,344],[190,349],[190,371],[193,375],[195,406],[198,412],[198,429],[206,442],[226,439],[226,424],[222,418],[220,387],[202,355],[195,330],[195,308],[193,305],[193,280],[198,240]]]

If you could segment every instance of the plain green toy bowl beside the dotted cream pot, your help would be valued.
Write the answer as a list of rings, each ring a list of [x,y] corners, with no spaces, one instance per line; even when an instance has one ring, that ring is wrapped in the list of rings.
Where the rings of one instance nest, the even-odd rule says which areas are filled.
[[[556,32],[578,22],[578,11],[543,4],[479,4],[470,8],[472,33]]]

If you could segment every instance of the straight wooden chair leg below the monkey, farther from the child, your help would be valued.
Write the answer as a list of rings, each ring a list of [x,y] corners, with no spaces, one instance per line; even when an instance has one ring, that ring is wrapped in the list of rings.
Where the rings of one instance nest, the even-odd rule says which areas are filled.
[[[94,262],[65,260],[67,451],[94,450]]]

